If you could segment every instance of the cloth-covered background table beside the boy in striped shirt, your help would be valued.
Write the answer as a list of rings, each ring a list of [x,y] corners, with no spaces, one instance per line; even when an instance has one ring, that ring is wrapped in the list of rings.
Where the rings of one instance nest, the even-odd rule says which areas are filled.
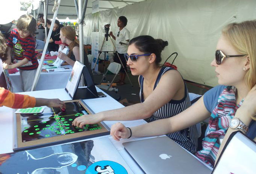
[[[71,70],[73,67],[71,65],[64,65],[62,67],[68,67],[70,69],[63,72],[54,71],[50,73],[41,73],[38,83],[36,85],[36,91],[65,88],[68,83],[68,78],[70,77]],[[9,78],[11,80],[13,87],[12,92],[23,92],[21,89],[20,72],[10,74]]]

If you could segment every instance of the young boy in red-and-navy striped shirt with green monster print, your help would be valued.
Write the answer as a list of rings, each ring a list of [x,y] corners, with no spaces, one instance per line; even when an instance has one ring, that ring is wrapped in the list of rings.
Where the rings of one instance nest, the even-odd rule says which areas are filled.
[[[20,69],[23,91],[31,91],[35,79],[38,61],[35,54],[35,39],[31,34],[36,31],[36,19],[31,15],[22,15],[18,19],[17,28],[13,29],[7,45],[11,48],[7,53],[4,69]],[[14,51],[15,63],[11,64],[11,51]]]

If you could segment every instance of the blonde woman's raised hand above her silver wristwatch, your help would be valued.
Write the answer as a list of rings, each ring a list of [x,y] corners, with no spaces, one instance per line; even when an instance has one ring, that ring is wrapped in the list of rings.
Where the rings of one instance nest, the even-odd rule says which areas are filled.
[[[255,116],[256,115],[255,103],[256,103],[256,85],[254,85],[253,88],[251,88],[251,90],[248,92],[239,110],[247,112],[247,114],[250,116]]]

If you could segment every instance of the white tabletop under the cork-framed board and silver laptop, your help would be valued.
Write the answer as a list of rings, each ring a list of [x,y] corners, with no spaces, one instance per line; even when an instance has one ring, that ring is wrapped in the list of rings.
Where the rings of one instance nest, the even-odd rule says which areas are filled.
[[[99,88],[97,88],[98,92],[103,92]],[[103,92],[104,93],[104,92]],[[52,90],[44,90],[44,91],[33,91],[33,92],[21,92],[20,94],[27,94],[33,97],[44,97],[44,98],[59,98],[62,101],[71,100],[70,96],[67,94],[65,89],[52,89]],[[106,93],[105,93],[106,94]],[[109,109],[117,109],[124,107],[118,101],[114,100],[108,94],[107,97],[103,98],[95,98],[95,99],[87,99],[83,100],[87,106],[90,107],[92,112],[98,113],[104,110]],[[100,107],[99,107],[100,106]],[[13,144],[13,116],[14,116],[14,109],[10,109],[8,107],[0,107],[0,139],[3,141],[0,145],[0,154],[2,153],[10,153],[13,152],[12,144]],[[111,125],[115,123],[115,121],[108,121],[105,122],[106,125],[111,127]],[[126,126],[136,126],[146,123],[144,120],[134,120],[134,121],[123,121]],[[110,136],[110,135],[109,135]],[[147,137],[144,137],[147,138]],[[124,158],[127,162],[129,167],[132,169],[133,173],[135,174],[143,174],[140,170],[138,165],[133,161],[133,159],[126,153],[122,143],[124,141],[132,141],[132,140],[139,140],[144,138],[130,138],[121,141],[114,141],[111,138],[112,143],[117,148],[120,155]]]

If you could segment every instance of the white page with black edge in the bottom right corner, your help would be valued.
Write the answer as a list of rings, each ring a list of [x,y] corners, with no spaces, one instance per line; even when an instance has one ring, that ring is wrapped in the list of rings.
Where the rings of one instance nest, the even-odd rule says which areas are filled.
[[[212,174],[255,174],[255,161],[255,141],[236,131],[229,136]]]

